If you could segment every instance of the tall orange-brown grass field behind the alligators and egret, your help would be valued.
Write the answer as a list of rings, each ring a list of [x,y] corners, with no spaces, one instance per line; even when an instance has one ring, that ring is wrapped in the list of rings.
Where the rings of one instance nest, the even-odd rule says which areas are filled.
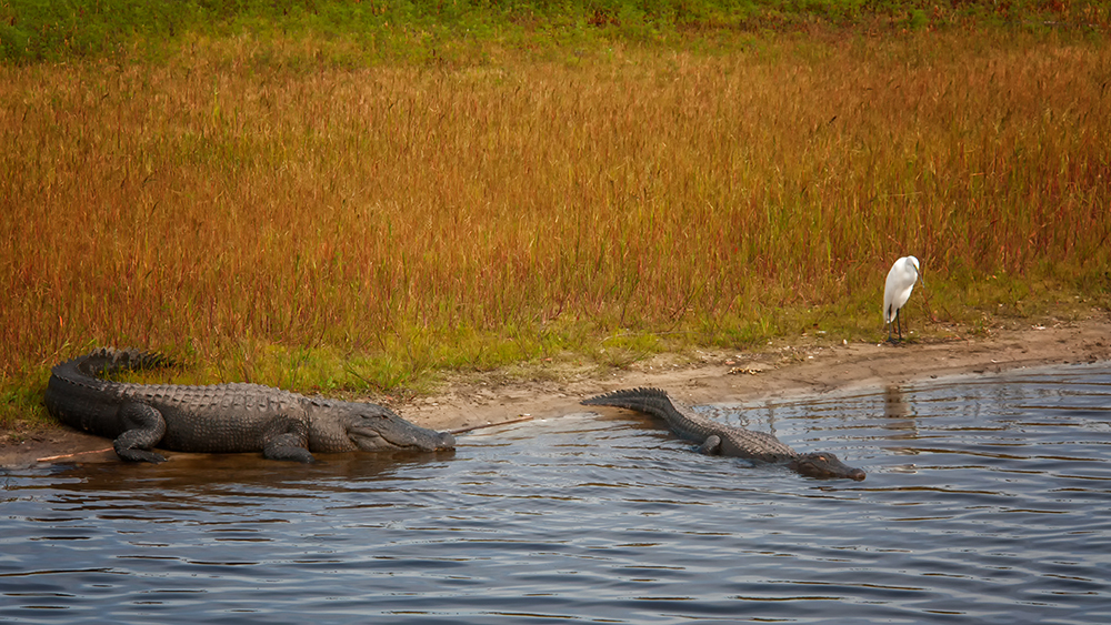
[[[101,344],[340,392],[877,341],[908,253],[919,335],[1111,308],[1107,13],[895,6],[420,13],[409,39],[248,11],[6,49],[0,424]]]

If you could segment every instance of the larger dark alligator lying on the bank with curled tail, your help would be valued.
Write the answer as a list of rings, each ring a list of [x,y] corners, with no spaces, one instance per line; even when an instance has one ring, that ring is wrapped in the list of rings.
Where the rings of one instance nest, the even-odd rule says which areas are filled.
[[[114,438],[127,461],[179,452],[262,452],[313,462],[312,452],[451,450],[451,434],[418,427],[371,403],[306,397],[260,384],[132,384],[102,376],[171,364],[159,354],[104,347],[51,370],[47,410],[62,423]]]

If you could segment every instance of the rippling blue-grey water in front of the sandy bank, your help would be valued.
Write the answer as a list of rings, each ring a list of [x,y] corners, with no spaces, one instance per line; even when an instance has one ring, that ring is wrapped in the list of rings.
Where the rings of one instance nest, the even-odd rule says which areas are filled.
[[[700,410],[868,480],[609,411],[449,456],[0,470],[0,622],[1111,622],[1111,364]]]

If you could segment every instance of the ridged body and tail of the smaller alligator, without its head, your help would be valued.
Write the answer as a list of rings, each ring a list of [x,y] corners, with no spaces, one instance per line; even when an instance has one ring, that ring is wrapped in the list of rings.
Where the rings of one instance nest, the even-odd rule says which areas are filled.
[[[677,435],[703,443],[710,436],[721,438],[721,454],[762,462],[784,462],[799,454],[771,434],[733,427],[705,419],[682,404],[675,404],[660,389],[614,391],[583,400],[587,405],[617,406],[634,410],[667,422]]]

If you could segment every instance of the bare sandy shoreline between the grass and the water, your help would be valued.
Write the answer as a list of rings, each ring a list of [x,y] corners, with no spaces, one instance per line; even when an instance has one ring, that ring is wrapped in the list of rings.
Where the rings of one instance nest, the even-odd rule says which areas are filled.
[[[902,345],[833,344],[828,341],[772,344],[761,353],[701,352],[697,362],[661,355],[628,369],[599,373],[538,371],[537,380],[506,381],[499,374],[449,382],[432,396],[391,404],[427,427],[452,430],[501,423],[522,415],[554,417],[581,412],[579,401],[630,386],[659,386],[691,404],[820,394],[854,386],[883,386],[967,373],[1001,372],[1047,364],[1111,359],[1111,319],[1092,319],[1022,330],[992,330],[987,336]],[[466,445],[466,435],[460,437]],[[107,438],[57,427],[19,437],[0,434],[0,466],[29,466],[37,458],[111,446]],[[171,454],[168,454],[172,456]],[[117,462],[111,451],[58,462]]]

